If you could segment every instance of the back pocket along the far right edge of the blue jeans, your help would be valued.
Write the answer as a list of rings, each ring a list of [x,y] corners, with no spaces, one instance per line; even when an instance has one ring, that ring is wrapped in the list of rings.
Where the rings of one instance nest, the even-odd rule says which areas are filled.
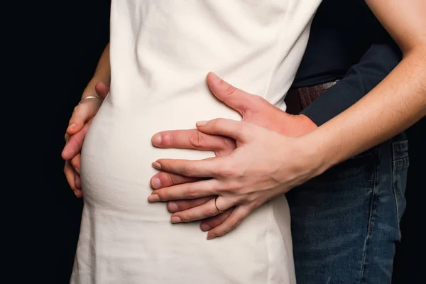
[[[393,194],[395,195],[396,214],[398,217],[398,231],[400,233],[400,220],[405,211],[405,187],[410,160],[408,157],[408,141],[395,141],[392,143],[393,153]]]

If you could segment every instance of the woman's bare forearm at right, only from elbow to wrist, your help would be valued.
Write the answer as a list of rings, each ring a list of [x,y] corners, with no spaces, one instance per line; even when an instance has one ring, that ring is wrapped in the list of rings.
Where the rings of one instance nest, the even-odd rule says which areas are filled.
[[[426,45],[420,45],[364,98],[307,136],[325,150],[325,170],[408,129],[425,115]]]

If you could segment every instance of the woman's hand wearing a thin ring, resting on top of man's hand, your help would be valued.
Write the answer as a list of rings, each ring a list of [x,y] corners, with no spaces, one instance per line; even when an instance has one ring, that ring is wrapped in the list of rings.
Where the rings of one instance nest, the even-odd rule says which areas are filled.
[[[209,231],[207,239],[226,234],[254,209],[321,172],[322,160],[314,155],[315,148],[305,145],[302,138],[289,138],[254,124],[229,119],[201,121],[197,129],[209,135],[233,138],[236,150],[230,155],[205,160],[155,161],[153,167],[158,170],[209,179],[154,190],[148,201],[208,197],[207,203],[172,217],[172,222],[179,223],[222,212],[229,214],[222,224]],[[292,163],[288,163],[289,160]]]

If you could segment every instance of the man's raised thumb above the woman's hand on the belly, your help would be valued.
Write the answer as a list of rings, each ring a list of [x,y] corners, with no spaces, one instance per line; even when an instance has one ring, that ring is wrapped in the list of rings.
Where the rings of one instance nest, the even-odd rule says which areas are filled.
[[[227,104],[232,109],[238,111],[242,116],[247,111],[253,111],[258,105],[258,96],[249,94],[238,89],[228,82],[219,78],[213,72],[207,74],[207,84],[210,90],[218,99]]]

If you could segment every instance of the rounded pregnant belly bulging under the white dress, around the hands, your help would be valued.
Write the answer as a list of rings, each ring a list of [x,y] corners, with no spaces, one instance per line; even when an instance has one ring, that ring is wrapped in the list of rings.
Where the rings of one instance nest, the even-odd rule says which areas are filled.
[[[121,212],[137,212],[170,219],[165,204],[148,204],[150,179],[158,158],[198,160],[212,152],[160,149],[151,145],[158,131],[194,129],[199,120],[224,117],[239,120],[239,114],[214,98],[188,96],[145,105],[133,110],[116,107],[107,97],[90,126],[82,149],[82,190],[89,204]],[[160,221],[160,220],[158,220]]]

